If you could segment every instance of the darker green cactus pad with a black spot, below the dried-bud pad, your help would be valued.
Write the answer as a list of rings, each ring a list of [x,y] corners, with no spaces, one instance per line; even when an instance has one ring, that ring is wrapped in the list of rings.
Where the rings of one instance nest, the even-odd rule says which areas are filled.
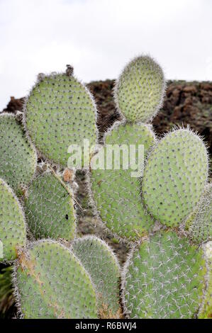
[[[26,218],[36,239],[65,238],[75,235],[75,214],[72,193],[60,176],[48,171],[33,180],[28,188]]]

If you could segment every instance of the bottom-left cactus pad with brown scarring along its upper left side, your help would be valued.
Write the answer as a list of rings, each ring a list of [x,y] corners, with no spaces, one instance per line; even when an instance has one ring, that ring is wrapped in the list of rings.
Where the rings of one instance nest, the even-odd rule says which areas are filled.
[[[96,318],[96,294],[88,273],[63,245],[38,241],[18,257],[16,292],[29,319]]]

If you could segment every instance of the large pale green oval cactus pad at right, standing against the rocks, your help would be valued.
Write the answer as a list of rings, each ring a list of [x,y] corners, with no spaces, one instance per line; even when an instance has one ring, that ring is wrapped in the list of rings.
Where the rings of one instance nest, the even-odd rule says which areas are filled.
[[[201,138],[191,130],[174,130],[152,150],[143,175],[143,199],[152,215],[177,226],[196,208],[208,176]]]

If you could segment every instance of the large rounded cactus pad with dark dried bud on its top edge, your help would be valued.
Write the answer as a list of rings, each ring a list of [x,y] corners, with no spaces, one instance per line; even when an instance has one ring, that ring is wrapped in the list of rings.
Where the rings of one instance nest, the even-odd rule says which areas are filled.
[[[35,85],[26,103],[28,134],[44,157],[66,167],[70,145],[96,144],[96,107],[73,76],[51,74]],[[82,161],[83,162],[83,161]]]

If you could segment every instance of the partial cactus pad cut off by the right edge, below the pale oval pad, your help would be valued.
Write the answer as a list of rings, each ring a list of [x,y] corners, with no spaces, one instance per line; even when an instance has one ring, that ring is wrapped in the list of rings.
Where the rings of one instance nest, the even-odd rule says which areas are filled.
[[[189,235],[198,243],[212,238],[212,184],[206,186],[196,214],[191,218]]]

